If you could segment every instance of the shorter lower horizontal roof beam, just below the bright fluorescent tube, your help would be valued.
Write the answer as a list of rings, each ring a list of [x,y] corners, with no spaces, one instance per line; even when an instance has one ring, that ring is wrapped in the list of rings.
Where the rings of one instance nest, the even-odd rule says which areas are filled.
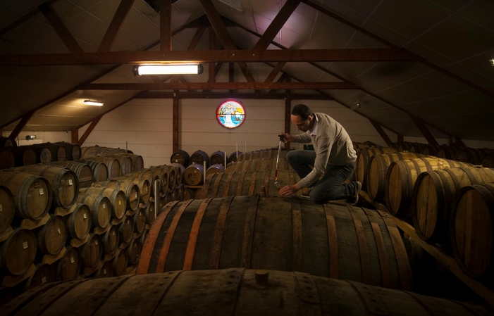
[[[175,90],[175,89],[358,89],[352,82],[178,82],[178,83],[94,83],[80,90]],[[290,92],[288,92],[290,93]]]

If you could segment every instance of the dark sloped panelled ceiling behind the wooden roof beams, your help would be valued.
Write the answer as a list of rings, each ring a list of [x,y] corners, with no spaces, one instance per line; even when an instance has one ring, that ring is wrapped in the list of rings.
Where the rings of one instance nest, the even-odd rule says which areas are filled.
[[[416,117],[426,123],[433,137],[494,140],[494,67],[489,63],[494,55],[494,1],[309,1],[312,0],[297,5],[268,49],[399,47],[424,58],[425,62],[288,62],[276,75],[275,82],[283,73],[290,75],[292,82],[351,82],[358,89],[296,92],[323,92],[346,106],[359,99],[362,108],[356,110],[358,113],[402,135],[422,136],[420,124],[412,120]],[[71,52],[52,26],[53,22],[37,9],[42,3],[36,0],[1,2],[0,54],[5,60],[12,54]],[[80,49],[92,53],[98,50],[121,1],[52,0],[48,3]],[[241,3],[243,12],[212,1],[216,11],[231,21],[228,25],[236,25],[228,27],[235,46],[252,49],[285,1],[242,0]],[[173,3],[174,51],[187,49],[197,34],[197,26],[201,25],[197,21],[202,20],[207,21],[199,0]],[[111,51],[159,50],[159,39],[160,13],[143,0],[135,0]],[[220,39],[216,39],[215,46],[222,49]],[[195,49],[209,49],[207,29]],[[203,75],[188,76],[181,81],[207,82],[208,65],[204,64]],[[247,63],[247,72],[252,73],[257,82],[264,82],[274,65],[275,62]],[[0,126],[4,130],[15,129],[21,118],[27,121],[24,130],[77,129],[141,92],[78,89],[80,84],[170,80],[164,76],[134,77],[130,65],[5,65],[0,61],[0,67]],[[234,78],[237,82],[246,82],[237,65]],[[228,63],[223,63],[216,81],[228,82]],[[221,91],[228,89],[213,90]],[[254,90],[245,91],[254,93]],[[187,89],[180,92],[185,94]],[[103,99],[105,105],[101,108],[84,106],[84,99]]]

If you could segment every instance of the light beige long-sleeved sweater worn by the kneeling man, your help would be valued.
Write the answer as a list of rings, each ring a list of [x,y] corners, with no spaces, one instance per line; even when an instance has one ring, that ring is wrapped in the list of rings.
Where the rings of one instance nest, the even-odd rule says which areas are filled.
[[[300,188],[310,187],[326,173],[327,165],[350,165],[357,160],[352,140],[342,125],[324,113],[314,113],[311,130],[295,135],[297,143],[312,143],[316,151],[314,169],[298,182]]]

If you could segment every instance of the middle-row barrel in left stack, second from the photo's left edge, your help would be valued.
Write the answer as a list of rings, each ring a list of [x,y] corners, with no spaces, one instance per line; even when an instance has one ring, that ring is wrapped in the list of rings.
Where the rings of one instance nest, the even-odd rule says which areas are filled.
[[[48,222],[36,229],[38,249],[44,255],[57,255],[67,241],[67,226],[61,216],[50,214]]]

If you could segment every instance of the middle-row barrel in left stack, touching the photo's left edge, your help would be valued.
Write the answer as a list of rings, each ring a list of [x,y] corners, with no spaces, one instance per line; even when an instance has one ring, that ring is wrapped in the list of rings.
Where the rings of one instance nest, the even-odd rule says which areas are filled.
[[[18,228],[0,245],[0,267],[4,273],[22,275],[36,258],[36,236],[29,229]]]

